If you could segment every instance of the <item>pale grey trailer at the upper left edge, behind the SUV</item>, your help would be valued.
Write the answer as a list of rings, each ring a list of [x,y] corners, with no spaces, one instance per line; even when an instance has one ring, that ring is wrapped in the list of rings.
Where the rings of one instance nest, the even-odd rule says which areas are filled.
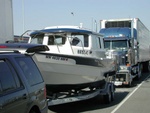
[[[12,0],[0,0],[0,43],[13,40]]]

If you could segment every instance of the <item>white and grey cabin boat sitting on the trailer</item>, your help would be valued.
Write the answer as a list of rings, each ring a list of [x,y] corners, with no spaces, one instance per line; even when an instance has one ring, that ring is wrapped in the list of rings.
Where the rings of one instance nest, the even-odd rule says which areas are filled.
[[[99,88],[104,74],[114,70],[106,59],[103,36],[78,26],[56,26],[32,32],[32,44],[44,44],[49,51],[34,55],[49,91]]]

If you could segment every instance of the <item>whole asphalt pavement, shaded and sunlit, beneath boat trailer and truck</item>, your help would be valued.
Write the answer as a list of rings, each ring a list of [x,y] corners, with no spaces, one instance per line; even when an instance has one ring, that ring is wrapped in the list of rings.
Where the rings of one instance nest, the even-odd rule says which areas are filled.
[[[143,73],[131,87],[116,87],[115,100],[110,104],[95,98],[81,102],[49,107],[48,113],[149,113],[150,74]]]

